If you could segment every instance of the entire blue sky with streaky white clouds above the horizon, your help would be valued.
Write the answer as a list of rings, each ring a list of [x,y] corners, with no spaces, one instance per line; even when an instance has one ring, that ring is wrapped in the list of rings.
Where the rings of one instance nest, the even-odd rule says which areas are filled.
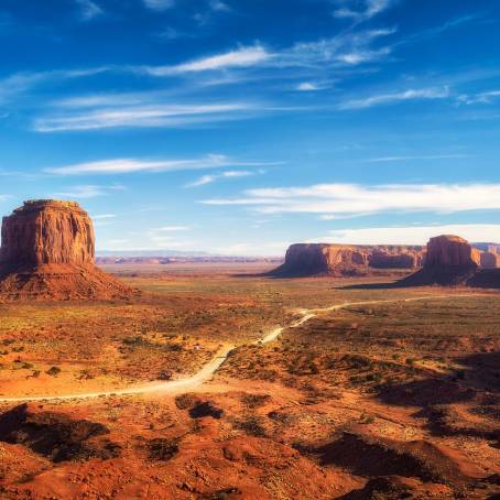
[[[0,211],[98,249],[500,241],[500,3],[3,0]]]

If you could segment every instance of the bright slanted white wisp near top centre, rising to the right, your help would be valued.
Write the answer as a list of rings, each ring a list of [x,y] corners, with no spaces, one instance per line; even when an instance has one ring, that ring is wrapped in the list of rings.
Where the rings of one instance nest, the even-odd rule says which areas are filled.
[[[241,47],[210,57],[191,61],[176,66],[145,66],[142,69],[153,76],[170,76],[183,73],[198,73],[214,69],[256,66],[272,57],[260,45]]]

